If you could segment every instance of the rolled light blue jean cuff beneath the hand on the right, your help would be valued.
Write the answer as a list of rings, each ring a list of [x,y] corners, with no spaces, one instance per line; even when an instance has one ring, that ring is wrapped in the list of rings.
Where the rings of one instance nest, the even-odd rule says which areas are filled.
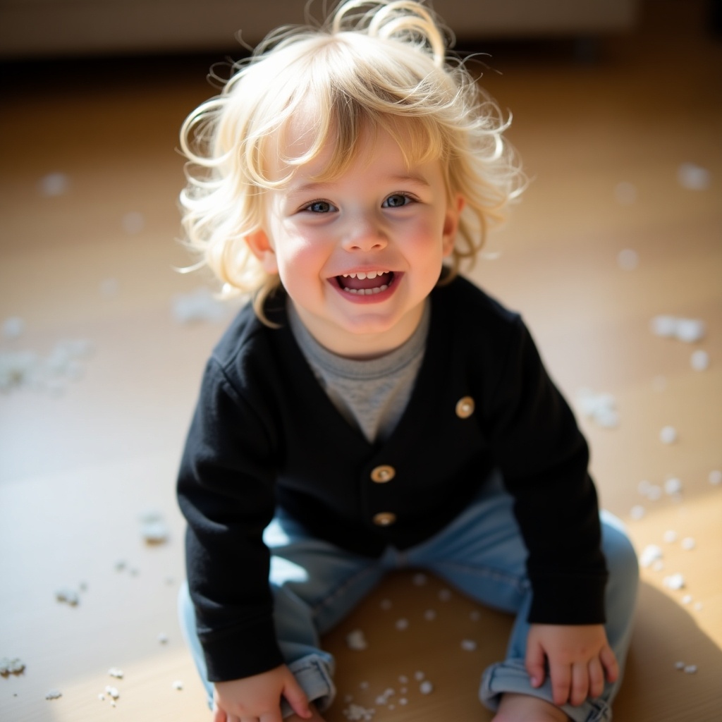
[[[501,695],[505,692],[531,695],[531,697],[539,697],[541,700],[554,704],[549,676],[547,675],[547,679],[544,680],[541,687],[532,687],[529,672],[526,671],[522,659],[508,659],[498,664],[492,664],[484,671],[482,686],[479,688],[479,699],[482,700],[484,706],[495,712],[499,707]],[[612,709],[601,698],[584,700],[578,707],[561,705],[560,709],[574,722],[610,722],[612,720]]]

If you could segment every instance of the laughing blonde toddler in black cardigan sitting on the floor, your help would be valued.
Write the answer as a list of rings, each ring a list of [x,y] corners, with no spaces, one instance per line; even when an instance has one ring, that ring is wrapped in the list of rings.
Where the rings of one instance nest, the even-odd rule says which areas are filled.
[[[520,316],[459,273],[524,179],[448,37],[414,0],[346,1],[183,126],[188,244],[251,298],[178,479],[214,722],[322,721],[321,635],[404,567],[516,616],[496,722],[612,718],[636,557]]]

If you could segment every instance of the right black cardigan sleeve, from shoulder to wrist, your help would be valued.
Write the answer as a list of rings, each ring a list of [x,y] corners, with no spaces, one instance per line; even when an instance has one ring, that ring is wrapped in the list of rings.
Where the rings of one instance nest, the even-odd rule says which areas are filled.
[[[606,562],[589,453],[518,319],[490,404],[492,444],[529,550],[529,622],[604,622]]]

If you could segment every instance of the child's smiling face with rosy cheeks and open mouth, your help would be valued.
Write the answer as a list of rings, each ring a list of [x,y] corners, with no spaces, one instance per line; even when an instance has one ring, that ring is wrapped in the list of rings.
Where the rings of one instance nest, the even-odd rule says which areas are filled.
[[[407,168],[383,130],[339,178],[314,181],[329,157],[322,153],[269,191],[266,226],[248,243],[264,269],[279,274],[318,342],[339,355],[373,357],[416,329],[453,249],[463,201],[448,202],[439,161]]]

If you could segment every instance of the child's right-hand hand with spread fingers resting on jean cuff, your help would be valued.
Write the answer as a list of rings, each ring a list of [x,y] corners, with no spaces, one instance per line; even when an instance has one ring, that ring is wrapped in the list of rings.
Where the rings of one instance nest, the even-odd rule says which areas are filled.
[[[532,687],[544,683],[545,658],[555,705],[599,697],[604,680],[614,682],[619,674],[602,625],[531,625],[525,664]]]

